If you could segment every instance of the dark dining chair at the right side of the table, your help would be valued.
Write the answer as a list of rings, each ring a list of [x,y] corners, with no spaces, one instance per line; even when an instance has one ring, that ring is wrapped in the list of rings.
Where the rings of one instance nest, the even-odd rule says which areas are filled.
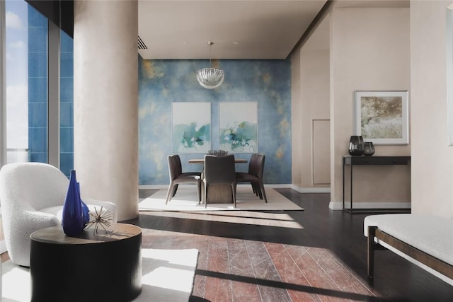
[[[268,202],[263,183],[264,162],[264,154],[252,154],[250,163],[248,163],[248,173],[236,173],[236,182],[250,182],[252,190],[256,194],[256,196],[260,197],[260,199],[264,199],[265,202]]]

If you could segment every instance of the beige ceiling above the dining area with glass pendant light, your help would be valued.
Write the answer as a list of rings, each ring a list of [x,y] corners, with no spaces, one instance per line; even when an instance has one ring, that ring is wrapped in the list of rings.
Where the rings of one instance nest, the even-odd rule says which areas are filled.
[[[144,59],[286,59],[326,0],[139,0]]]

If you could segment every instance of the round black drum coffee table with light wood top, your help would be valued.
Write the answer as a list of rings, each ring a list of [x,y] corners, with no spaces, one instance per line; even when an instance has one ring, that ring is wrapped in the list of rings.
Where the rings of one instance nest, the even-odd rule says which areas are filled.
[[[142,230],[113,223],[66,236],[61,226],[30,235],[31,301],[132,301],[142,291]]]

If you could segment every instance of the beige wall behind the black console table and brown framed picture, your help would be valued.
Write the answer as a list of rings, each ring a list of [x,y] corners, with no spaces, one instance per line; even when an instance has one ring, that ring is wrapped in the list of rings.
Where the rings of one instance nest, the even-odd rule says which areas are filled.
[[[342,157],[348,155],[348,142],[354,134],[354,91],[410,91],[409,15],[408,8],[334,8],[331,13],[333,209],[343,201]],[[375,149],[375,156],[411,155],[411,144]],[[408,166],[357,167],[353,185],[354,202],[372,202],[373,207],[390,202],[399,207],[411,201]]]

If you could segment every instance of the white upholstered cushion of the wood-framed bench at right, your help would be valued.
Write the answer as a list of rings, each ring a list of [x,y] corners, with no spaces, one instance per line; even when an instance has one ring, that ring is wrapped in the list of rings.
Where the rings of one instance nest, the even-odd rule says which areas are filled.
[[[365,217],[364,234],[368,226],[418,248],[453,265],[453,219],[415,214],[382,214]],[[378,242],[379,243],[379,242]]]

